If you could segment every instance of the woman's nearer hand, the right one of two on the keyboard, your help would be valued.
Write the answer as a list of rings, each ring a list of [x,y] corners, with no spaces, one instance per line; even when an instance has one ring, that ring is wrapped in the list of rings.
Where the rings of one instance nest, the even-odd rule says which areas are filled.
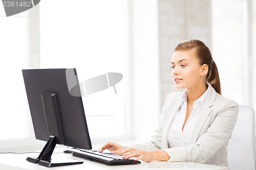
[[[122,153],[124,159],[136,157],[135,160],[141,159],[144,162],[151,162],[153,160],[167,161],[170,159],[169,155],[164,150],[145,151],[135,148],[126,148]]]

